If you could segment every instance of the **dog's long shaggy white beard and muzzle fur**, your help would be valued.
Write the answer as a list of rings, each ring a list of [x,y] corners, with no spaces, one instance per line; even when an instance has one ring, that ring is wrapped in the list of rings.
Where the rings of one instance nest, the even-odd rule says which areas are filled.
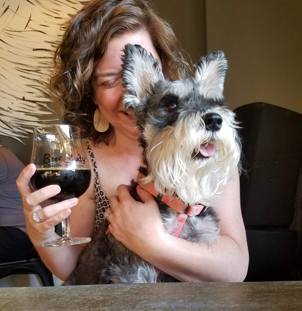
[[[152,125],[144,126],[149,165],[144,182],[153,181],[158,193],[176,193],[190,205],[213,205],[219,197],[218,188],[233,176],[240,159],[234,114],[221,108],[215,110],[223,118],[217,132],[205,129],[201,113],[180,116],[175,126],[158,132]],[[194,151],[198,153],[199,146],[207,142],[214,143],[215,154],[194,156]]]

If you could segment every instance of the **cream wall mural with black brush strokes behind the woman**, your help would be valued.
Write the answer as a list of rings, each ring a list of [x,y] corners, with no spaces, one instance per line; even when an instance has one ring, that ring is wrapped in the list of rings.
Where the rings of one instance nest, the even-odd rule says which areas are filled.
[[[52,118],[45,91],[61,25],[86,1],[0,0],[0,136],[22,142]]]

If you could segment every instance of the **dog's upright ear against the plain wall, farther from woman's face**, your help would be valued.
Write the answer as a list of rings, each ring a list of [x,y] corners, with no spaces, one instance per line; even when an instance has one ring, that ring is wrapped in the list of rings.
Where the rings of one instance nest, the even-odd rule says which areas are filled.
[[[225,54],[222,51],[212,52],[202,57],[194,68],[194,80],[201,94],[207,98],[223,98],[225,72],[228,68]]]

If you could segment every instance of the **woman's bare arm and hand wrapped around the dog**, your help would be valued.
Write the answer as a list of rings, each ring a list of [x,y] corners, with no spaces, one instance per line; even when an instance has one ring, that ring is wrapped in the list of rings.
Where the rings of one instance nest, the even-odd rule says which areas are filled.
[[[153,197],[142,188],[137,190],[144,202],[140,205],[132,203],[131,207],[128,204],[131,199],[125,196],[125,188],[122,191],[119,189],[122,199],[110,199],[113,214],[109,215],[112,222],[109,228],[125,246],[183,282],[244,280],[249,255],[240,210],[238,172],[221,189],[222,197],[215,207],[220,218],[218,226],[221,236],[210,245],[167,234],[158,217],[159,210]],[[120,217],[125,219],[121,221]]]

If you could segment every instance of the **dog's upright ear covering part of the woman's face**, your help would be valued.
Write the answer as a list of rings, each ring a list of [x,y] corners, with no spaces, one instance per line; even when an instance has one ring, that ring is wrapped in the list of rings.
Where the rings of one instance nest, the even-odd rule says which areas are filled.
[[[146,93],[152,93],[154,84],[163,80],[162,72],[159,60],[153,58],[152,54],[149,55],[140,45],[126,44],[123,52],[123,104],[124,108],[135,110]]]

